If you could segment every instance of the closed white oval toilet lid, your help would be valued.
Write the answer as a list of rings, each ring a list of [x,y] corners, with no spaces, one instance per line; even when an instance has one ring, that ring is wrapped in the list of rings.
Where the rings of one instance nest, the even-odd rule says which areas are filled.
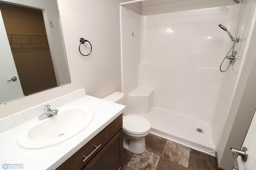
[[[130,133],[143,134],[150,130],[150,122],[144,117],[128,115],[123,119],[123,128]]]

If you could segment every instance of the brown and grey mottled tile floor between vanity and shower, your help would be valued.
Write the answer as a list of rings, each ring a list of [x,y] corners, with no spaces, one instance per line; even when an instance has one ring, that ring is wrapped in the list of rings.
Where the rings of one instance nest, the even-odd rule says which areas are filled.
[[[216,170],[216,165],[214,156],[148,134],[144,153],[124,149],[124,170]]]

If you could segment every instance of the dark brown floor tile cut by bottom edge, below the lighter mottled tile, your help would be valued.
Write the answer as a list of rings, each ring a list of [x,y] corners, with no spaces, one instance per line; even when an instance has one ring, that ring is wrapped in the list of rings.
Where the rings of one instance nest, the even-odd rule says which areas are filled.
[[[161,157],[156,170],[188,170],[188,168]]]

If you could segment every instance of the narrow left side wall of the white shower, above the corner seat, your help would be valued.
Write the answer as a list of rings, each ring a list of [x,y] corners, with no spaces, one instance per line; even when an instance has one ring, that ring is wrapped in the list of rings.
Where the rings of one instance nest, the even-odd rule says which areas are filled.
[[[124,101],[128,93],[138,85],[138,63],[140,62],[140,24],[141,16],[120,7],[122,12],[122,71]],[[132,36],[134,33],[134,36]],[[129,106],[127,106],[129,107]]]

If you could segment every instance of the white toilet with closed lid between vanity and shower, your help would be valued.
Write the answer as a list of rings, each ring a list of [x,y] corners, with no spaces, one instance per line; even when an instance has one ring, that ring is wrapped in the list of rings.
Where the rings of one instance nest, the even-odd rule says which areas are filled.
[[[102,99],[123,105],[124,93],[114,92]],[[124,148],[135,154],[145,152],[145,136],[149,134],[150,129],[150,122],[144,117],[123,116]]]

